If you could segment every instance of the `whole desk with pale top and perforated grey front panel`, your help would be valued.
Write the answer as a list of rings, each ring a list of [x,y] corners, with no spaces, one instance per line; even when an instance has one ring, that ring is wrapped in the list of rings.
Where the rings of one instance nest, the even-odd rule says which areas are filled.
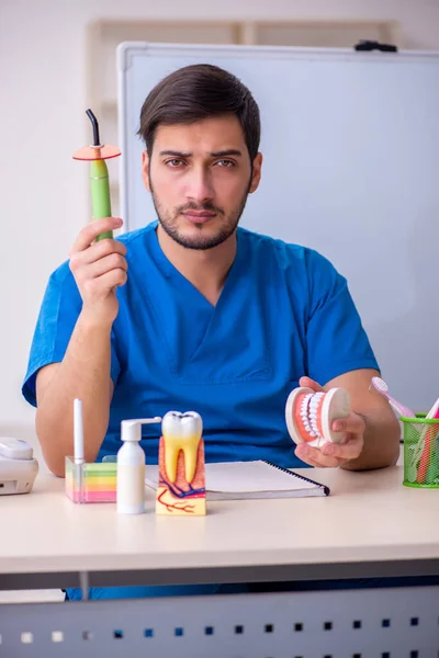
[[[76,506],[41,475],[0,499],[0,589],[439,574],[437,490],[403,487],[398,466],[312,475],[331,496],[215,502],[196,519],[156,517],[153,492],[139,517]],[[438,622],[439,587],[9,604],[0,656],[424,658]]]

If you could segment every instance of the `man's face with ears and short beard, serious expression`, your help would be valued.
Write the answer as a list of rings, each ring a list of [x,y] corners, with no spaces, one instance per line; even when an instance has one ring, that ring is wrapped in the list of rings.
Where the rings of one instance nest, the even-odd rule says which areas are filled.
[[[250,157],[234,115],[159,126],[143,179],[164,230],[189,249],[212,249],[235,231],[262,157]]]

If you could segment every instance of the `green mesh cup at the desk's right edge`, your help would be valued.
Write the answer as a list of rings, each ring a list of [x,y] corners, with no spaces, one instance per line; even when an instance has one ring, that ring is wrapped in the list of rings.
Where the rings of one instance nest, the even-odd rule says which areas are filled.
[[[406,487],[439,489],[439,418],[399,418],[404,431],[404,481]]]

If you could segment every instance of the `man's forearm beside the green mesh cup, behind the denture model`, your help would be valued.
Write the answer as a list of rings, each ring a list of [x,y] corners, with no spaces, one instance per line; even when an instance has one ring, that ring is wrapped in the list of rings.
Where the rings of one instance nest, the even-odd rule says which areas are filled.
[[[347,470],[369,470],[396,464],[399,456],[399,423],[393,411],[374,409],[358,413],[365,422],[364,447],[359,457],[341,466]]]

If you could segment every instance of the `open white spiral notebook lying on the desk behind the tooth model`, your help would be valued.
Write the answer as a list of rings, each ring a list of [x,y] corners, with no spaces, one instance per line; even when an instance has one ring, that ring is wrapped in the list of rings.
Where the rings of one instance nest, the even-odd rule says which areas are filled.
[[[145,483],[157,488],[158,467],[146,466]],[[205,465],[207,500],[328,496],[329,488],[271,462]]]

